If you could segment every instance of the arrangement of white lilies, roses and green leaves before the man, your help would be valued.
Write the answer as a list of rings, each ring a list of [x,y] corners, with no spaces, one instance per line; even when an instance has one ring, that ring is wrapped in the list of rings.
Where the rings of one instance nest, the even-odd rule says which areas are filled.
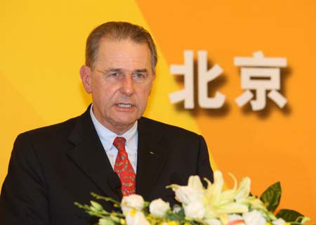
[[[205,179],[206,188],[199,176],[190,176],[187,186],[167,186],[172,188],[176,200],[181,204],[174,205],[173,209],[160,198],[148,203],[140,195],[129,195],[119,203],[95,193],[91,193],[93,197],[111,201],[118,210],[107,212],[94,201],[91,201],[91,205],[75,205],[99,217],[99,225],[287,225],[304,224],[310,220],[294,210],[279,210],[273,214],[281,198],[279,182],[257,198],[250,193],[249,177],[244,177],[238,185],[235,176],[230,176],[235,184],[228,190],[223,190],[223,175],[219,171],[214,172],[213,184]]]

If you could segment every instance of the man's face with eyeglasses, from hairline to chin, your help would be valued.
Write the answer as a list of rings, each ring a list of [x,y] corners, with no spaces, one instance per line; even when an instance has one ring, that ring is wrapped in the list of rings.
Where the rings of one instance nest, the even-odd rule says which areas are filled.
[[[116,134],[124,134],[145,111],[154,81],[150,56],[147,44],[130,39],[101,39],[94,69],[81,68],[84,87],[92,94],[94,115]],[[124,75],[124,79],[112,79],[115,72]],[[131,75],[137,76],[138,72],[150,79],[134,82]]]

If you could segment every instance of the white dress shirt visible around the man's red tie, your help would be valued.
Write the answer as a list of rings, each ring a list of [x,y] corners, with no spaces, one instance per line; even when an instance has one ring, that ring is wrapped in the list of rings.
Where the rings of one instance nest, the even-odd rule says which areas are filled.
[[[109,129],[105,128],[103,124],[97,120],[96,116],[93,114],[93,105],[90,108],[90,115],[93,122],[94,127],[96,128],[97,134],[99,139],[103,145],[105,153],[107,153],[107,158],[109,158],[112,168],[114,169],[115,160],[117,159],[118,150],[113,146],[114,139],[118,136],[117,134],[113,133]],[[137,130],[137,121],[129,129],[126,133],[120,135],[126,139],[125,149],[127,155],[129,157],[129,162],[136,173],[137,167],[137,143],[138,143],[138,130]]]

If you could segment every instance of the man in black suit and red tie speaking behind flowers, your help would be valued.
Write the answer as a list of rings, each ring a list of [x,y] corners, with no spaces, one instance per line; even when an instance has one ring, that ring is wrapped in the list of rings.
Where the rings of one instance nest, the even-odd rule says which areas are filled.
[[[80,75],[93,104],[79,117],[18,136],[1,190],[1,225],[91,224],[74,206],[88,203],[91,192],[175,203],[165,186],[193,174],[213,180],[202,136],[142,117],[156,64],[143,27],[110,22],[91,32]]]

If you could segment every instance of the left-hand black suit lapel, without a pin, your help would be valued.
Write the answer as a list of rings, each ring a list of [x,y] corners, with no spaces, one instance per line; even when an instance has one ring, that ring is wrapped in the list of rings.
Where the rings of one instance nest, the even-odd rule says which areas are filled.
[[[113,169],[93,126],[90,107],[77,120],[69,141],[74,144],[74,148],[67,152],[71,160],[104,195],[119,200],[119,195],[109,184],[112,181]]]

